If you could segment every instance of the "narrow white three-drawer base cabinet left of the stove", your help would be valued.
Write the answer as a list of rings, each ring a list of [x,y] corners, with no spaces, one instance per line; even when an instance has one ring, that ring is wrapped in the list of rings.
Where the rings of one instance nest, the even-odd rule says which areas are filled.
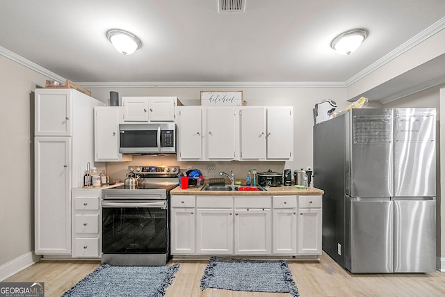
[[[101,257],[101,190],[74,188],[72,190],[72,257]]]

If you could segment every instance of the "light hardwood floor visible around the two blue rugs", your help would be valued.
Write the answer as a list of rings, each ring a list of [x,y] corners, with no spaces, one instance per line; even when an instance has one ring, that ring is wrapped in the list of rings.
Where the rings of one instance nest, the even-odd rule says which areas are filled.
[[[445,273],[351,274],[329,256],[320,262],[287,262],[300,296],[445,296]],[[99,262],[40,261],[5,282],[44,282],[45,296],[60,296],[93,271]],[[200,280],[207,261],[180,261],[179,271],[166,290],[169,296],[253,297],[291,296],[205,289]]]

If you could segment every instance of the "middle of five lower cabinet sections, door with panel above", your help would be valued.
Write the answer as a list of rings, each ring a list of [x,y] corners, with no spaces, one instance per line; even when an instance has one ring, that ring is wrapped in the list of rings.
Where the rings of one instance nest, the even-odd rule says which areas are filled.
[[[270,254],[270,196],[234,197],[235,254]]]

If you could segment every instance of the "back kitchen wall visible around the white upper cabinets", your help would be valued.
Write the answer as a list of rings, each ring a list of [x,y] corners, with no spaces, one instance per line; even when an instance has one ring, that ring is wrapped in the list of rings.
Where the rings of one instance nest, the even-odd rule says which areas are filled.
[[[114,90],[122,96],[177,96],[184,105],[200,105],[201,90],[215,88],[88,88],[92,96],[109,104],[109,91]],[[257,172],[271,169],[282,172],[284,168],[296,170],[312,167],[312,127],[314,105],[323,99],[333,99],[338,104],[338,111],[344,110],[350,102],[346,102],[345,88],[218,88],[218,90],[243,90],[243,99],[249,106],[273,105],[293,106],[294,111],[294,158],[289,162],[178,162],[175,157],[135,156],[131,163],[108,162],[106,169],[112,179],[124,179],[129,165],[176,165],[181,169],[188,166],[200,169],[204,177],[216,177],[218,172],[234,170],[236,179],[245,179],[249,169]],[[222,125],[224,125],[222,123]],[[215,166],[214,170],[207,168]]]

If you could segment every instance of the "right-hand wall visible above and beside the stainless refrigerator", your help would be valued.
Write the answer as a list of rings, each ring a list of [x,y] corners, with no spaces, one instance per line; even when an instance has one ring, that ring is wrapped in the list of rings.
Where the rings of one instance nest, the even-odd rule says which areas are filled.
[[[442,88],[444,85],[442,85]],[[436,109],[436,122],[437,122],[437,176],[436,176],[436,234],[437,234],[437,256],[440,258],[439,261],[444,262],[442,267],[445,267],[445,244],[441,242],[441,239],[445,239],[445,203],[442,203],[441,199],[441,180],[445,178],[445,176],[441,176],[441,159],[444,159],[444,156],[441,154],[441,147],[445,147],[445,137],[441,137],[441,134],[444,133],[440,129],[440,114],[441,114],[441,106],[442,112],[445,111],[444,104],[441,104],[440,99],[440,88],[441,86],[436,86],[434,88],[429,88],[427,90],[423,90],[422,92],[416,93],[414,95],[407,96],[402,99],[398,99],[393,102],[389,102],[384,105],[384,107],[432,107]],[[442,92],[444,92],[442,90]],[[442,96],[442,100],[445,99],[445,96]],[[442,149],[443,150],[443,149]]]

